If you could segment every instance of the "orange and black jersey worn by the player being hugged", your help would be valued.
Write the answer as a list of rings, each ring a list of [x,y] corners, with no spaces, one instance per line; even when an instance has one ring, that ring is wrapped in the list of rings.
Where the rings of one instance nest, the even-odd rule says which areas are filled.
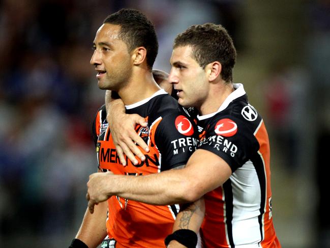
[[[148,175],[186,164],[195,151],[198,133],[194,121],[177,101],[164,90],[152,97],[126,106],[126,113],[139,114],[147,120],[147,127],[136,132],[150,151],[145,161],[134,165],[119,162],[111,131],[102,106],[93,124],[99,168],[114,174]],[[153,206],[116,196],[108,200],[107,232],[116,240],[116,247],[165,247],[164,238],[171,233],[178,206]]]

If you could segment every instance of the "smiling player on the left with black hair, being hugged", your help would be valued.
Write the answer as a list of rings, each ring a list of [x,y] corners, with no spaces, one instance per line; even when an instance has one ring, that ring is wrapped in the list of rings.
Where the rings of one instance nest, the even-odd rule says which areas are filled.
[[[149,149],[142,151],[143,161],[126,161],[124,167],[112,142],[103,105],[93,125],[99,172],[139,177],[186,164],[198,135],[183,108],[153,78],[158,51],[153,24],[141,12],[123,9],[104,20],[93,47],[91,64],[97,71],[99,88],[123,99],[127,113],[145,118],[147,124],[137,126],[135,131]],[[177,212],[175,205],[154,206],[113,196],[98,204],[93,214],[86,211],[70,247],[96,247],[106,236],[102,242],[105,247],[164,247]]]

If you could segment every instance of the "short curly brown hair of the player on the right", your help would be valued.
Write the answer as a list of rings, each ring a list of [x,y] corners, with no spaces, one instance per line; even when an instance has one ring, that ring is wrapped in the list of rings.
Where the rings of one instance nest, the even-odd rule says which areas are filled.
[[[228,32],[222,25],[205,23],[192,25],[178,34],[173,48],[192,46],[193,58],[202,67],[214,61],[222,66],[221,77],[226,82],[232,81],[232,70],[236,62],[236,49]]]

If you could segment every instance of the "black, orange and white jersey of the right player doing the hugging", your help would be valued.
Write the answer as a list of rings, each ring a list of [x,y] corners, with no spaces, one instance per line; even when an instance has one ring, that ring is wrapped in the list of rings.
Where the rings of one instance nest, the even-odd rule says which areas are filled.
[[[204,247],[281,247],[272,218],[267,131],[243,85],[234,88],[216,113],[198,116],[204,128],[198,149],[217,154],[232,171],[204,196]]]

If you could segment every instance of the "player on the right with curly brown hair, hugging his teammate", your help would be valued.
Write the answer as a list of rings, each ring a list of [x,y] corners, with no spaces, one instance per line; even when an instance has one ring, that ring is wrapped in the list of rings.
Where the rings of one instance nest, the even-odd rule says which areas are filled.
[[[204,196],[205,247],[281,247],[272,217],[268,135],[243,85],[232,83],[235,60],[233,42],[221,25],[193,25],[176,37],[169,80],[179,104],[198,109],[198,125],[203,127],[199,147],[181,170],[135,178],[91,175],[91,208],[112,195],[150,204],[193,202]],[[106,192],[97,191],[99,184]],[[174,233],[166,239],[170,247],[191,245],[195,236],[187,230],[196,230],[200,216],[194,211],[200,208],[198,201],[178,214]]]

